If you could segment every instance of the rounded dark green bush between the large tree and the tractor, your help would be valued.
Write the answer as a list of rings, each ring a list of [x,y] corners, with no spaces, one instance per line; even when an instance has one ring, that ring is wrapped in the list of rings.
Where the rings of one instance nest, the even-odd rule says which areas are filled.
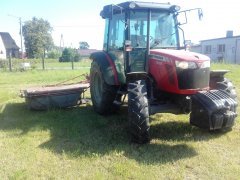
[[[81,57],[75,49],[65,48],[62,52],[62,56],[59,58],[59,62],[78,62],[80,59]]]

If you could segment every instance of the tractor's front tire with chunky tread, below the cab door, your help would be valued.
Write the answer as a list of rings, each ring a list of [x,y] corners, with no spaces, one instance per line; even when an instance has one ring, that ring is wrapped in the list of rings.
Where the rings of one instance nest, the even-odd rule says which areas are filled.
[[[145,80],[128,84],[128,119],[132,141],[145,144],[149,138],[149,104]]]

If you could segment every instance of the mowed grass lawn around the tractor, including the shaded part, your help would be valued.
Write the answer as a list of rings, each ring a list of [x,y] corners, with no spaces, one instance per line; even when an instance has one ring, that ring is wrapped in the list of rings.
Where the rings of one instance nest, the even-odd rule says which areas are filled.
[[[213,69],[232,71],[227,77],[240,97],[240,66]],[[232,131],[209,133],[192,127],[188,115],[156,114],[150,144],[136,145],[127,106],[107,117],[90,104],[30,111],[19,97],[20,89],[88,71],[0,72],[0,179],[240,179],[239,117]]]

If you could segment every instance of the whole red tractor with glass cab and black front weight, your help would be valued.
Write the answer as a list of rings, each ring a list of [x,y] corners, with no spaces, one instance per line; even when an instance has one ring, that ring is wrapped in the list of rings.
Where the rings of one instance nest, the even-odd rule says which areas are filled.
[[[93,107],[102,115],[116,112],[128,95],[136,143],[149,142],[149,115],[155,113],[190,113],[192,125],[209,130],[231,128],[237,116],[228,71],[210,71],[207,56],[181,47],[178,16],[191,10],[179,10],[134,1],[104,6],[100,14],[106,26],[103,51],[91,55]]]

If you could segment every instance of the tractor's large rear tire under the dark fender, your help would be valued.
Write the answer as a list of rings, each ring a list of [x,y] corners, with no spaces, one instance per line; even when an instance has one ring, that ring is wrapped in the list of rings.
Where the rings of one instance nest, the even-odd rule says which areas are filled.
[[[91,64],[90,93],[94,110],[102,115],[116,112],[119,106],[113,104],[117,95],[117,86],[108,85],[103,72],[96,61]]]

